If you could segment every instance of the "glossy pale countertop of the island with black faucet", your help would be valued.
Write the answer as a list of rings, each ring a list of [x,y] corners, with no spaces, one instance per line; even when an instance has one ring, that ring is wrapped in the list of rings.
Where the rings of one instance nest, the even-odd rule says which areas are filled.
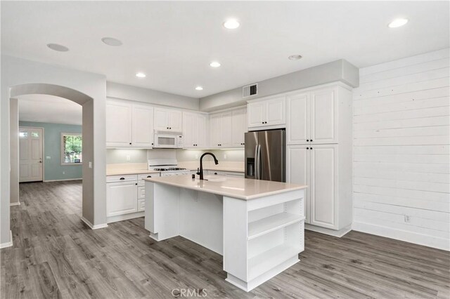
[[[143,180],[244,200],[302,190],[307,187],[306,185],[295,185],[287,182],[230,178],[218,175],[205,175],[205,178],[211,178],[212,180],[199,180],[198,178],[193,180],[191,175],[144,178]]]

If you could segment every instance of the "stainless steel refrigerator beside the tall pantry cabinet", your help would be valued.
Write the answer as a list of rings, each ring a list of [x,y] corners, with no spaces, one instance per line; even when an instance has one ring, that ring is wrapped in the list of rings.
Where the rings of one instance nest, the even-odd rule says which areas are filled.
[[[285,182],[285,130],[245,133],[245,178]]]

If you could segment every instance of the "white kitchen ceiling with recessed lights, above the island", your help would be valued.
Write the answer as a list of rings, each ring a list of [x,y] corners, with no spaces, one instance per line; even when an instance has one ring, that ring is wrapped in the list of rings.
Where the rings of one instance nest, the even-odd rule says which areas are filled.
[[[230,17],[238,29],[221,26]],[[388,28],[398,17],[410,21]],[[195,98],[341,58],[366,67],[446,47],[449,1],[1,1],[2,53]]]

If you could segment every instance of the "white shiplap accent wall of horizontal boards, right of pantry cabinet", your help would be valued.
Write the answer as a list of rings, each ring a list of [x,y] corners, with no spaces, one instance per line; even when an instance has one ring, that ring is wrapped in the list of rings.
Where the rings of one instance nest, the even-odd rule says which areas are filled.
[[[449,50],[359,70],[354,230],[450,250]]]

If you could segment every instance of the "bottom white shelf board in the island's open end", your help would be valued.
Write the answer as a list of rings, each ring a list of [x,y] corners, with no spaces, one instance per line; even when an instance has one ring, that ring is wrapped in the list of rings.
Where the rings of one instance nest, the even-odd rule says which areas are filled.
[[[293,258],[300,253],[301,249],[295,246],[281,244],[269,249],[248,260],[248,279],[254,279],[259,275],[271,270],[281,263]]]

